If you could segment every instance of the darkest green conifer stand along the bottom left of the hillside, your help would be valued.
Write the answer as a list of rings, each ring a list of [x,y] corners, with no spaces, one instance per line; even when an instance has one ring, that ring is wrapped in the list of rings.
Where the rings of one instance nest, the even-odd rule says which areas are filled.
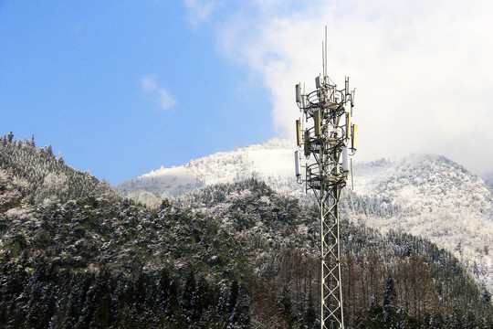
[[[60,271],[37,260],[0,274],[2,328],[250,328],[247,293],[237,281],[222,290],[194,271],[139,271],[136,277]]]

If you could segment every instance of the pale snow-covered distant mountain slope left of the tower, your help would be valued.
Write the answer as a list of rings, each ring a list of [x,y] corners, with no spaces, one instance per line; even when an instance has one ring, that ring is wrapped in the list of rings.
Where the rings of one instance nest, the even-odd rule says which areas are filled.
[[[294,143],[275,138],[231,152],[216,153],[173,168],[163,168],[121,182],[123,194],[143,190],[157,195],[181,196],[195,188],[221,183],[261,179],[284,192],[299,188],[294,178]]]

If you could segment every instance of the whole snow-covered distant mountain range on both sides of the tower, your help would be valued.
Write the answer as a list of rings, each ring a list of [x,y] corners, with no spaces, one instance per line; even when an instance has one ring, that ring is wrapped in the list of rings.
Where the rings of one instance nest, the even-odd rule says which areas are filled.
[[[162,167],[116,189],[181,196],[203,186],[256,177],[278,191],[304,196],[294,176],[295,149],[294,143],[273,139]],[[347,202],[362,205],[348,210],[351,220],[430,239],[454,252],[493,292],[493,195],[477,175],[443,156],[412,154],[398,161],[355,165],[354,191],[346,191]]]

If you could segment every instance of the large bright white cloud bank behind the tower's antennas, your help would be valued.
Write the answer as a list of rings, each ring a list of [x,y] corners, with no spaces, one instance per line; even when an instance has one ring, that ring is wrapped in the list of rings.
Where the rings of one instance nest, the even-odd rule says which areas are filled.
[[[221,23],[219,47],[263,77],[280,135],[299,116],[294,85],[314,88],[327,25],[330,78],[357,88],[360,159],[424,152],[493,170],[493,3],[251,4]]]

